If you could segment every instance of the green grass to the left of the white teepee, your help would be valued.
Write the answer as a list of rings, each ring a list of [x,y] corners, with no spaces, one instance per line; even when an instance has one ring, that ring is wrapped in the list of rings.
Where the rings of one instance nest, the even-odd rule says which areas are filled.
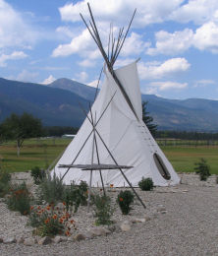
[[[34,166],[46,168],[65,150],[71,139],[31,139],[24,142],[17,157],[15,142],[0,145],[1,165],[9,172],[29,170]]]

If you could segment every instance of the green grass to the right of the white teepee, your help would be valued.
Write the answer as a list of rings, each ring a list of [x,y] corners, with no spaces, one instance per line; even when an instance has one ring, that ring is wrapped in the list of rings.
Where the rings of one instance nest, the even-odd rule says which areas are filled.
[[[218,146],[161,147],[166,157],[178,172],[194,171],[194,162],[200,158],[207,160],[212,174],[218,174]]]

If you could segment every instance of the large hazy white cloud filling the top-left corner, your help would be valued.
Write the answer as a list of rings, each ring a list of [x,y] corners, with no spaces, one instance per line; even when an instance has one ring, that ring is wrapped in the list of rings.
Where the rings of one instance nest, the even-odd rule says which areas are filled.
[[[29,44],[33,44],[36,38],[37,32],[27,25],[22,15],[4,0],[0,0],[0,48],[29,48]]]

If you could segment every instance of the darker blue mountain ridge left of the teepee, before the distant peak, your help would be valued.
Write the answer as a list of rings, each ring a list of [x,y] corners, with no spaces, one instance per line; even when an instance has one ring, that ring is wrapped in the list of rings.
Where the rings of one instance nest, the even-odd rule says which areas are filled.
[[[27,111],[44,125],[79,127],[84,119],[79,102],[87,109],[88,101],[72,92],[0,78],[0,122]]]

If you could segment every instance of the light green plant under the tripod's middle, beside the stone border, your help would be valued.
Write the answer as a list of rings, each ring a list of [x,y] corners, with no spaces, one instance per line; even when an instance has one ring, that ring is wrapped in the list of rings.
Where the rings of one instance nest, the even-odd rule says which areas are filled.
[[[111,207],[111,199],[108,196],[92,195],[92,203],[94,205],[95,224],[112,224],[111,217],[113,209]]]

